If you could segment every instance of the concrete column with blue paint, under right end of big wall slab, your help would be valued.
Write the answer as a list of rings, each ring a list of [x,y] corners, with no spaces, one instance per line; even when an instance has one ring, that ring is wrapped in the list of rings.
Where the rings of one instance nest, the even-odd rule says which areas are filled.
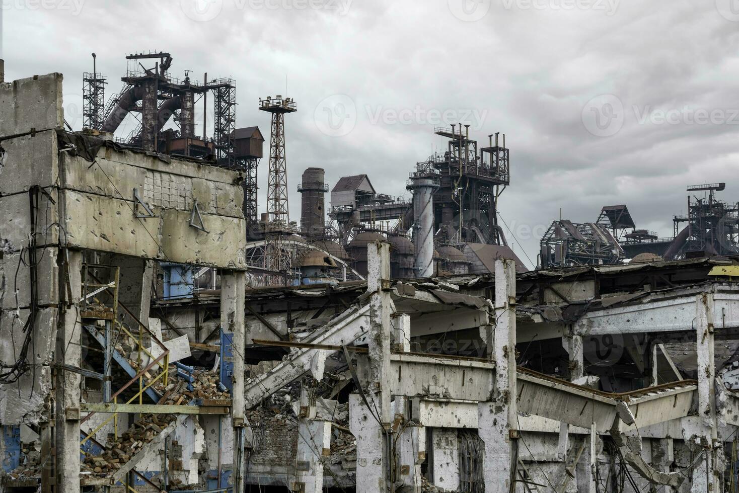
[[[231,390],[231,420],[234,424],[234,472],[231,475],[234,492],[244,488],[245,447],[245,286],[244,272],[222,272],[221,274],[221,327],[234,334],[234,388]]]

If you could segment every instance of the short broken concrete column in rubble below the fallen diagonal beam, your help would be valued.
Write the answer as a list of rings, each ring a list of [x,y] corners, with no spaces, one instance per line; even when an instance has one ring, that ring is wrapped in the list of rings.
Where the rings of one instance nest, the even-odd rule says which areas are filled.
[[[302,387],[293,492],[323,492],[323,458],[331,453],[331,422],[316,420],[315,404],[310,390]]]

